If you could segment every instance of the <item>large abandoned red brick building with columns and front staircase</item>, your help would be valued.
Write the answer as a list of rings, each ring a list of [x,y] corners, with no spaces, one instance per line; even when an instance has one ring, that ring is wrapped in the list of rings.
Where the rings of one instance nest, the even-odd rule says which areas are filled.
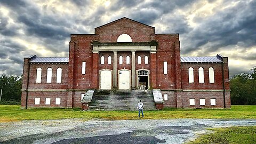
[[[24,58],[21,108],[230,108],[228,58],[180,57],[179,34],[121,18],[71,34],[69,57]]]

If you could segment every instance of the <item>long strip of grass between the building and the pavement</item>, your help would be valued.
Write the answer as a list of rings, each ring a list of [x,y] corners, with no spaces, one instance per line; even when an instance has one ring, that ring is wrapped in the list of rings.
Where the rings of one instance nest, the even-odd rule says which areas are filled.
[[[231,106],[231,109],[175,109],[143,111],[145,119],[167,118],[251,118],[256,119],[256,106]],[[25,109],[18,105],[0,105],[0,122],[25,119],[138,119],[137,111],[81,111],[81,109]]]

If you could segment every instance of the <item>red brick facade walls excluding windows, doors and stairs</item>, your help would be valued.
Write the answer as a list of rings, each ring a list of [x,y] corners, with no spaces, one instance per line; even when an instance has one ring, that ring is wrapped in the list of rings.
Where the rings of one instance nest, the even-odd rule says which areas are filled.
[[[122,34],[129,35],[132,42],[117,42]],[[21,108],[82,107],[81,94],[100,89],[100,71],[110,70],[111,89],[119,89],[119,71],[123,69],[130,71],[129,89],[140,89],[138,71],[148,71],[148,80],[143,80],[149,83],[148,89],[161,89],[163,98],[167,94],[163,105],[158,103],[158,107],[230,108],[228,59],[181,62],[179,34],[155,34],[154,27],[122,18],[95,28],[94,34],[71,34],[70,38],[68,61],[38,62],[36,56],[24,59]],[[82,74],[83,62],[85,74]],[[190,67],[194,69],[194,83],[188,81]],[[199,67],[204,69],[204,83],[198,82]],[[210,67],[214,69],[214,83],[209,83]],[[37,68],[42,68],[41,83],[36,83]],[[51,83],[46,83],[47,68],[52,68]],[[61,83],[57,83],[57,68],[62,69]],[[40,98],[39,105],[35,105],[36,98]],[[51,98],[50,105],[45,105],[46,98]],[[55,104],[56,98],[60,98],[60,105]],[[189,105],[189,99],[195,99],[195,105]],[[205,99],[205,105],[199,105],[199,99]],[[210,99],[215,99],[215,105],[211,105]]]

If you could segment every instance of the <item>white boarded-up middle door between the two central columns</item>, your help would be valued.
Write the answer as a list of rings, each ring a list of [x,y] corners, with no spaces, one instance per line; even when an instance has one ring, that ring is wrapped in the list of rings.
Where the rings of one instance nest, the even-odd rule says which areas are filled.
[[[119,70],[119,90],[130,90],[130,71]]]

